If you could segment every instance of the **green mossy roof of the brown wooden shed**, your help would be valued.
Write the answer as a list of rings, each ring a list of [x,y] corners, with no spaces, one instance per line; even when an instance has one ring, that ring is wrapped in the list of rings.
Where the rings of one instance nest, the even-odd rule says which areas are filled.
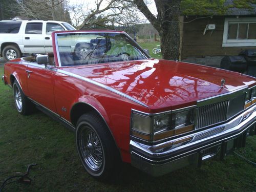
[[[183,15],[225,15],[228,8],[247,8],[256,0],[234,0],[233,5],[224,5],[225,0],[181,0]]]

